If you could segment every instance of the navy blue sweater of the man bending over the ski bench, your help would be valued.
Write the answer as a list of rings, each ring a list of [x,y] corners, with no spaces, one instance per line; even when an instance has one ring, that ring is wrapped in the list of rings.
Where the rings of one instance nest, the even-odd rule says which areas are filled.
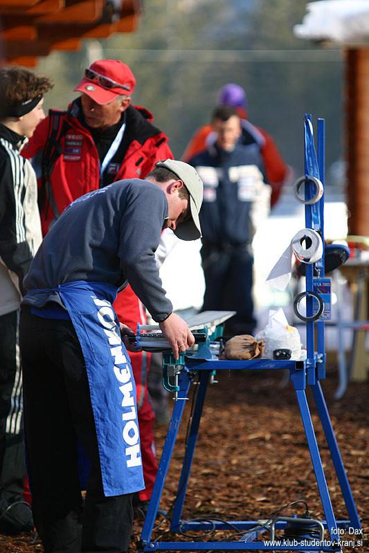
[[[50,289],[76,280],[122,287],[128,280],[152,318],[164,320],[172,304],[165,298],[154,252],[167,218],[165,194],[150,181],[127,179],[89,192],[49,230],[24,287]]]

